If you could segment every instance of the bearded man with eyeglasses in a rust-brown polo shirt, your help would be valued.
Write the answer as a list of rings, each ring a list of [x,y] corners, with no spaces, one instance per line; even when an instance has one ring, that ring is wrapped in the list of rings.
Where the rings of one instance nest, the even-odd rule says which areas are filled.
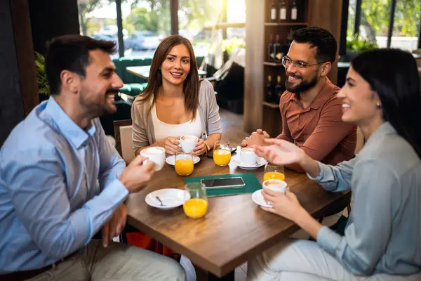
[[[305,27],[293,33],[282,58],[287,79],[279,103],[282,133],[276,137],[333,165],[351,159],[356,146],[356,126],[342,122],[342,99],[336,96],[340,88],[327,77],[337,48],[335,37],[323,28]],[[265,138],[270,136],[258,129],[241,145],[266,145]],[[286,167],[303,172],[296,164]]]

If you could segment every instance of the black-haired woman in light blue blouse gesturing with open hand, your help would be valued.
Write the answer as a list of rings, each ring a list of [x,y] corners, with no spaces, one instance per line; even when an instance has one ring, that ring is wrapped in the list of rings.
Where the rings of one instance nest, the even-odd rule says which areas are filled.
[[[288,240],[248,263],[248,280],[421,280],[421,94],[410,53],[378,49],[352,61],[338,93],[345,122],[366,145],[348,162],[316,162],[292,143],[255,147],[276,164],[298,163],[325,190],[352,190],[345,235],[322,226],[297,197],[263,190],[273,209],[316,242]]]

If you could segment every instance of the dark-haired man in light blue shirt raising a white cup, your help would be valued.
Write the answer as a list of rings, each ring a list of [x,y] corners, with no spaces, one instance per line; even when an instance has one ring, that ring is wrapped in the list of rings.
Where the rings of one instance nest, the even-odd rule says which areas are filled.
[[[123,86],[114,51],[79,35],[48,47],[52,96],[0,150],[0,280],[185,280],[173,259],[112,242],[123,201],[154,173],[141,157],[126,167],[98,120]],[[91,240],[99,230],[102,243]]]

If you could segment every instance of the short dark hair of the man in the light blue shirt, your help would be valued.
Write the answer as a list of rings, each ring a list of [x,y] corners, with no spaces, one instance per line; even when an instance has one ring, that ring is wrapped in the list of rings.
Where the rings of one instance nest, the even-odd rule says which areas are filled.
[[[116,51],[116,44],[81,35],[64,35],[51,39],[46,53],[46,75],[51,93],[60,93],[60,74],[63,70],[86,77],[86,67],[90,63],[89,51],[97,49],[112,54]]]

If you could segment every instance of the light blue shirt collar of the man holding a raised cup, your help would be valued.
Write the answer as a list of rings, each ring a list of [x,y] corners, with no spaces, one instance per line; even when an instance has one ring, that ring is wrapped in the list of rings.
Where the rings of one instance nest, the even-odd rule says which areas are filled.
[[[60,133],[73,143],[76,149],[79,149],[83,143],[85,143],[90,136],[93,136],[95,133],[95,126],[93,122],[85,130],[81,129],[70,117],[66,114],[62,107],[58,105],[55,99],[51,96],[48,99],[46,109],[45,109],[44,119],[46,122],[55,126]]]

